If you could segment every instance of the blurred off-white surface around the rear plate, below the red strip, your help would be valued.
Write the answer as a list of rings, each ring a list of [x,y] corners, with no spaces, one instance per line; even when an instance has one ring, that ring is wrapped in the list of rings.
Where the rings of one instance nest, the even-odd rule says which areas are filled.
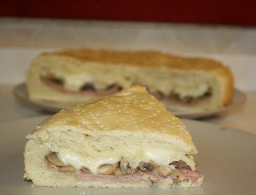
[[[206,56],[230,66],[242,109],[203,119],[256,135],[256,28],[218,25],[47,20],[0,17],[0,122],[47,113],[21,105],[12,94],[42,51],[67,47],[155,49]]]

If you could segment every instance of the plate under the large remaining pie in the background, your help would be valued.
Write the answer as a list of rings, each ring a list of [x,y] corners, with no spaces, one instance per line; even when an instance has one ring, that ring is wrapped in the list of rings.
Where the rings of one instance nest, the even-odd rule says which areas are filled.
[[[45,111],[48,111],[49,113],[57,113],[61,109],[67,109],[68,107],[70,107],[70,105],[65,103],[51,103],[51,102],[30,100],[27,94],[27,87],[24,83],[16,86],[13,92],[15,97],[25,106],[41,108],[41,109],[44,109]],[[243,105],[245,100],[246,100],[246,95],[243,92],[240,92],[235,89],[232,103],[223,108],[204,109],[204,110],[195,110],[195,111],[172,111],[172,110],[169,110],[169,111],[177,117],[194,118],[194,119],[205,118],[212,115],[223,114],[231,109],[238,108]]]

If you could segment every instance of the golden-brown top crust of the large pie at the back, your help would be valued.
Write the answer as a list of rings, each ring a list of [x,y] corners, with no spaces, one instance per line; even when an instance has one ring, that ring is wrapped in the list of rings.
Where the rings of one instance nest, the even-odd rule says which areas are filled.
[[[78,58],[83,61],[93,61],[104,64],[129,64],[133,66],[146,66],[146,67],[168,67],[176,68],[179,70],[205,70],[205,71],[218,71],[221,70],[229,74],[229,68],[223,66],[219,61],[199,58],[199,57],[180,57],[165,54],[153,50],[145,51],[121,51],[121,50],[103,50],[103,49],[67,49],[54,53],[43,53],[41,56],[46,55],[61,55]]]

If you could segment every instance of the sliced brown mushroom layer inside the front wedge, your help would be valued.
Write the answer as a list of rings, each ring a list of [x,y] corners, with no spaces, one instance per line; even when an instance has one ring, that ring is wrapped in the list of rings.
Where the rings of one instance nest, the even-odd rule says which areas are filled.
[[[74,168],[71,165],[65,165],[62,163],[56,152],[52,152],[46,156],[49,163],[54,164],[54,167],[59,172],[65,173],[77,173],[78,171],[83,171],[85,173],[91,173],[90,170],[84,166],[80,170]],[[158,165],[154,161],[141,162],[138,167],[133,168],[130,166],[130,163],[125,157],[121,158],[120,162],[114,164],[102,164],[98,167],[97,173],[98,174],[113,174],[116,177],[124,176],[124,175],[133,175],[137,172],[146,172],[146,173],[157,173],[163,176],[170,175],[173,179],[179,181],[188,181],[188,178],[185,177],[177,168],[186,168],[191,170],[191,168],[182,160],[175,161],[170,163],[169,165]]]

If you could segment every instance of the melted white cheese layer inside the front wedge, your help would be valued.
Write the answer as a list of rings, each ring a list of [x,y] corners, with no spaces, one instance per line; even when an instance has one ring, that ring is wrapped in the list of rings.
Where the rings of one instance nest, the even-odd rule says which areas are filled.
[[[49,145],[46,144],[46,146],[56,152],[59,160],[64,163],[65,165],[71,165],[77,169],[81,169],[82,166],[85,166],[86,168],[90,169],[91,173],[97,174],[98,167],[102,164],[114,164],[119,161],[121,161],[122,156],[118,157],[85,157],[82,156],[80,153],[71,151],[67,148],[60,147],[58,145]],[[128,162],[131,162],[132,167],[138,167],[139,164],[144,161],[148,162],[149,160],[154,161],[155,163],[159,165],[169,165],[169,163],[173,161],[179,161],[182,160],[187,163],[191,167],[192,170],[195,170],[195,162],[186,155],[179,153],[179,152],[170,152],[167,150],[162,150],[159,152],[159,149],[141,149],[139,151],[124,151],[124,154],[129,153],[131,154],[140,154],[137,155],[137,157],[133,159],[127,160]],[[129,155],[128,155],[129,156]],[[136,160],[134,162],[134,160]]]

